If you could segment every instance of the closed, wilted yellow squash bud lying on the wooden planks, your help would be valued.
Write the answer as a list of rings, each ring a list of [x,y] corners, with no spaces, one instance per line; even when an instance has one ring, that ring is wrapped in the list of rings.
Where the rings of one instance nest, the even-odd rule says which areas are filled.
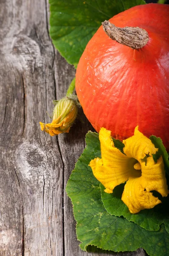
[[[75,99],[68,97],[60,99],[54,107],[52,122],[50,124],[39,122],[41,130],[51,136],[69,132],[71,125],[76,119],[77,112],[78,106]]]

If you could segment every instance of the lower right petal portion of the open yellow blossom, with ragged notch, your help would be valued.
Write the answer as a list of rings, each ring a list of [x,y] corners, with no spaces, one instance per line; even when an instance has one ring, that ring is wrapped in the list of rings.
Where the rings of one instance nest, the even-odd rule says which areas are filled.
[[[130,177],[124,186],[121,200],[127,205],[131,213],[137,213],[143,209],[151,209],[161,201],[152,195],[150,191],[158,191],[162,196],[167,196],[166,177],[162,156],[157,163],[152,156],[147,158],[147,163],[141,163],[142,176]]]

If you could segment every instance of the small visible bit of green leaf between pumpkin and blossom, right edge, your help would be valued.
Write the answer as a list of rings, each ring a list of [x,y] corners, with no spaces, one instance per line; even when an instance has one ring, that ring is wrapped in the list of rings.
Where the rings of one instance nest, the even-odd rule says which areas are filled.
[[[155,147],[158,148],[157,153],[153,155],[154,160],[157,161],[158,158],[162,155],[166,173],[169,175],[169,155],[166,151],[166,148],[163,145],[161,138],[157,138],[153,135],[150,136],[149,138],[152,141],[152,143],[155,145]]]

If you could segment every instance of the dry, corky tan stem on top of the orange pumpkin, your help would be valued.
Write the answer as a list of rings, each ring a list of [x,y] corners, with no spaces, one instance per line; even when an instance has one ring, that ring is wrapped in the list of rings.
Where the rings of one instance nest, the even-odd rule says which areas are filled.
[[[102,22],[102,26],[111,39],[131,47],[132,49],[140,49],[149,41],[149,36],[146,30],[139,27],[119,28],[108,20]]]

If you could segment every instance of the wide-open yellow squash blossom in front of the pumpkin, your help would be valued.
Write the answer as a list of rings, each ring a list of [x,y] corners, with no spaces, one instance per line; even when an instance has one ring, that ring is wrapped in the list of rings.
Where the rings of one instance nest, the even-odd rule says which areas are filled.
[[[169,194],[163,158],[161,156],[155,163],[152,154],[158,148],[138,131],[138,126],[132,137],[123,140],[124,154],[115,148],[111,131],[101,128],[99,140],[101,159],[91,160],[89,166],[107,193],[112,193],[115,186],[127,181],[121,200],[131,213],[151,209],[161,203],[151,191],[156,190],[162,196]]]

